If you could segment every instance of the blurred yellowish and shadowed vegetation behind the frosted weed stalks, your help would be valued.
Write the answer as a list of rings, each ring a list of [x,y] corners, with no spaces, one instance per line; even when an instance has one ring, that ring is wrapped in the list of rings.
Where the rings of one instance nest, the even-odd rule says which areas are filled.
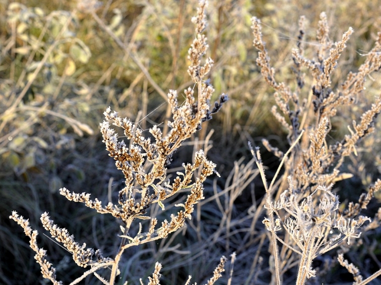
[[[195,0],[88,0],[79,4],[72,0],[0,0],[0,284],[42,280],[22,229],[8,219],[12,210],[39,229],[41,246],[48,250],[50,261],[58,267],[58,279],[64,283],[78,277],[82,269],[42,235],[42,212],[49,212],[76,241],[101,248],[105,256],[116,251],[115,221],[66,201],[58,190],[66,187],[107,201],[112,198],[111,190],[117,193],[123,187],[123,175],[108,157],[99,133],[108,106],[145,130],[160,124],[166,131],[165,94],[168,89],[181,93],[192,84],[186,70],[196,6]],[[380,1],[209,1],[213,99],[224,92],[230,100],[203,125],[198,137],[179,150],[170,171],[190,161],[193,149],[203,147],[208,148],[208,158],[217,164],[222,178],[207,183],[207,199],[200,203],[187,230],[128,253],[122,281],[137,284],[153,272],[159,260],[162,284],[184,284],[188,275],[193,282],[205,282],[220,256],[233,251],[238,254],[234,284],[261,284],[255,276],[268,275],[266,261],[262,268],[252,266],[253,259],[260,264],[259,253],[268,253],[266,247],[258,250],[261,241],[251,225],[253,205],[263,192],[247,142],[260,145],[260,139],[267,137],[282,151],[288,144],[285,130],[269,112],[274,100],[255,65],[250,18],[255,15],[263,23],[264,40],[279,79],[293,82],[290,55],[299,34],[299,17],[306,16],[304,45],[313,57],[322,11],[328,16],[331,39],[339,40],[349,26],[355,30],[336,71],[333,85],[338,85],[373,47],[381,30]],[[374,74],[356,106],[339,110],[332,121],[332,140],[348,133],[347,125],[369,108],[380,94],[380,79],[379,73]],[[380,177],[380,134],[378,128],[357,149],[358,156],[348,158],[346,171],[354,176],[340,186],[343,202],[356,201],[358,193]],[[279,160],[262,153],[271,176]],[[216,193],[221,193],[218,199]],[[369,210],[377,211],[377,206],[375,202]],[[171,207],[167,209],[162,219],[170,215]],[[158,209],[151,211],[156,215]],[[361,270],[374,272],[381,268],[380,231],[368,239],[356,258]],[[338,269],[325,276],[325,284],[337,284],[335,278],[345,277],[334,270]],[[88,278],[85,284],[96,282]],[[221,282],[226,284],[224,279]]]

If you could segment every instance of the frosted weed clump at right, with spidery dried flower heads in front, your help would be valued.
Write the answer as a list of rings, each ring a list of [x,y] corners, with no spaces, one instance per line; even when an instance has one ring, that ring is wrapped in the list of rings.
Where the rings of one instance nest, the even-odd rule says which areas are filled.
[[[361,195],[358,203],[350,203],[343,214],[338,211],[338,196],[331,190],[333,183],[351,176],[349,173],[340,173],[340,167],[346,156],[357,154],[356,145],[360,140],[374,131],[375,120],[381,112],[381,96],[361,116],[359,122],[353,121],[353,130],[349,128],[350,134],[335,144],[327,145],[326,142],[331,129],[330,118],[336,114],[337,108],[352,105],[364,92],[366,77],[380,69],[381,33],[359,71],[350,72],[341,86],[333,88],[331,76],[353,29],[349,28],[340,41],[333,43],[328,37],[326,15],[321,13],[317,31],[317,58],[308,59],[303,56],[304,49],[301,45],[303,20],[304,17],[300,21],[297,49],[292,51],[297,83],[293,90],[286,82],[275,79],[275,69],[271,67],[262,40],[260,21],[255,17],[252,19],[253,43],[259,51],[256,63],[263,78],[275,89],[276,106],[271,111],[288,130],[291,144],[288,152],[283,154],[268,141],[263,141],[269,151],[282,158],[269,186],[259,149],[252,149],[267,193],[267,218],[263,224],[270,232],[274,258],[273,266],[270,267],[273,284],[281,284],[283,273],[296,264],[299,264],[297,284],[305,284],[307,278],[317,274],[312,267],[316,257],[338,246],[348,247],[352,238],[359,238],[361,231],[368,229],[364,223],[371,222],[370,218],[360,215],[360,210],[367,208],[374,193],[381,188],[381,180],[377,180],[370,186],[368,193]],[[310,89],[305,88],[306,74],[302,68],[307,69],[312,76]],[[283,164],[284,174],[276,180]],[[380,226],[379,219],[375,221],[376,225],[371,228]],[[344,265],[342,259],[339,256],[340,263]],[[345,267],[357,276],[353,266],[346,263]],[[379,274],[377,272],[373,278]],[[360,278],[355,281],[356,284],[365,284]]]

